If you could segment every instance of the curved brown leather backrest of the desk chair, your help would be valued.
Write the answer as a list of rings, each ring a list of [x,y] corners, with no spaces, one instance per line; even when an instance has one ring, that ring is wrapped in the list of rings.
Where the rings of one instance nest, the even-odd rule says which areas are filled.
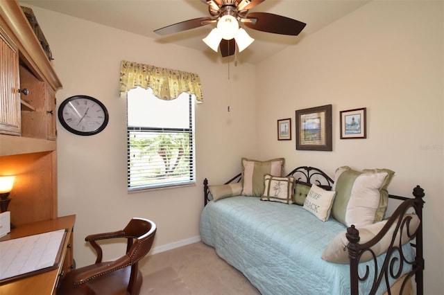
[[[133,218],[123,229],[125,235],[133,237],[134,242],[128,240],[128,256],[132,262],[137,262],[144,258],[153,246],[153,241],[157,226],[151,220],[144,218]]]

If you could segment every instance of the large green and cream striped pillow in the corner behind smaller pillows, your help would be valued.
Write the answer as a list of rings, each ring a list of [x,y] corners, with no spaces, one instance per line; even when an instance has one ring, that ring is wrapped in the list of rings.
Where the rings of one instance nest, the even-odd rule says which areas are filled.
[[[260,197],[264,193],[265,175],[282,177],[283,158],[269,161],[256,161],[242,158],[242,195]]]

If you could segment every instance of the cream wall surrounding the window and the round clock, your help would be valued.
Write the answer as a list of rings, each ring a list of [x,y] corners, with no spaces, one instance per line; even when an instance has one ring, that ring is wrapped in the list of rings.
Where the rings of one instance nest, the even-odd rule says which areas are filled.
[[[251,64],[222,62],[207,53],[115,30],[32,7],[48,40],[63,84],[58,105],[70,96],[93,96],[105,104],[110,122],[95,136],[77,136],[58,123],[58,214],[76,214],[74,258],[94,262],[86,235],[123,229],[131,217],[158,226],[154,250],[198,239],[203,179],[222,182],[239,172],[242,156],[255,157],[255,73]],[[126,101],[119,98],[121,60],[198,73],[205,102],[196,105],[196,186],[126,191]],[[230,93],[230,95],[228,95]],[[230,102],[231,111],[227,111]],[[105,258],[122,255],[109,247]]]

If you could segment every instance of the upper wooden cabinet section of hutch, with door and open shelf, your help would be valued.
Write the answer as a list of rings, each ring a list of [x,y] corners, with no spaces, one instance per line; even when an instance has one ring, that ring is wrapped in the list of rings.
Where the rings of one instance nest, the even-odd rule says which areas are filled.
[[[0,156],[21,153],[6,152],[1,134],[55,141],[62,84],[15,0],[0,0],[0,48]]]

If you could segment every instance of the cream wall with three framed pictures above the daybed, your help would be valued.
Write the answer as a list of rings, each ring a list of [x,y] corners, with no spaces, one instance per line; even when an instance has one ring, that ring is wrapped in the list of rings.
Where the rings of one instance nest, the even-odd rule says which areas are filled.
[[[425,294],[444,292],[443,24],[443,1],[373,1],[257,66],[259,157],[279,153],[287,172],[390,168],[391,194],[425,188]],[[296,150],[296,109],[329,104],[333,152]],[[359,107],[367,138],[339,139],[339,111]],[[276,139],[281,118],[292,141]]]

